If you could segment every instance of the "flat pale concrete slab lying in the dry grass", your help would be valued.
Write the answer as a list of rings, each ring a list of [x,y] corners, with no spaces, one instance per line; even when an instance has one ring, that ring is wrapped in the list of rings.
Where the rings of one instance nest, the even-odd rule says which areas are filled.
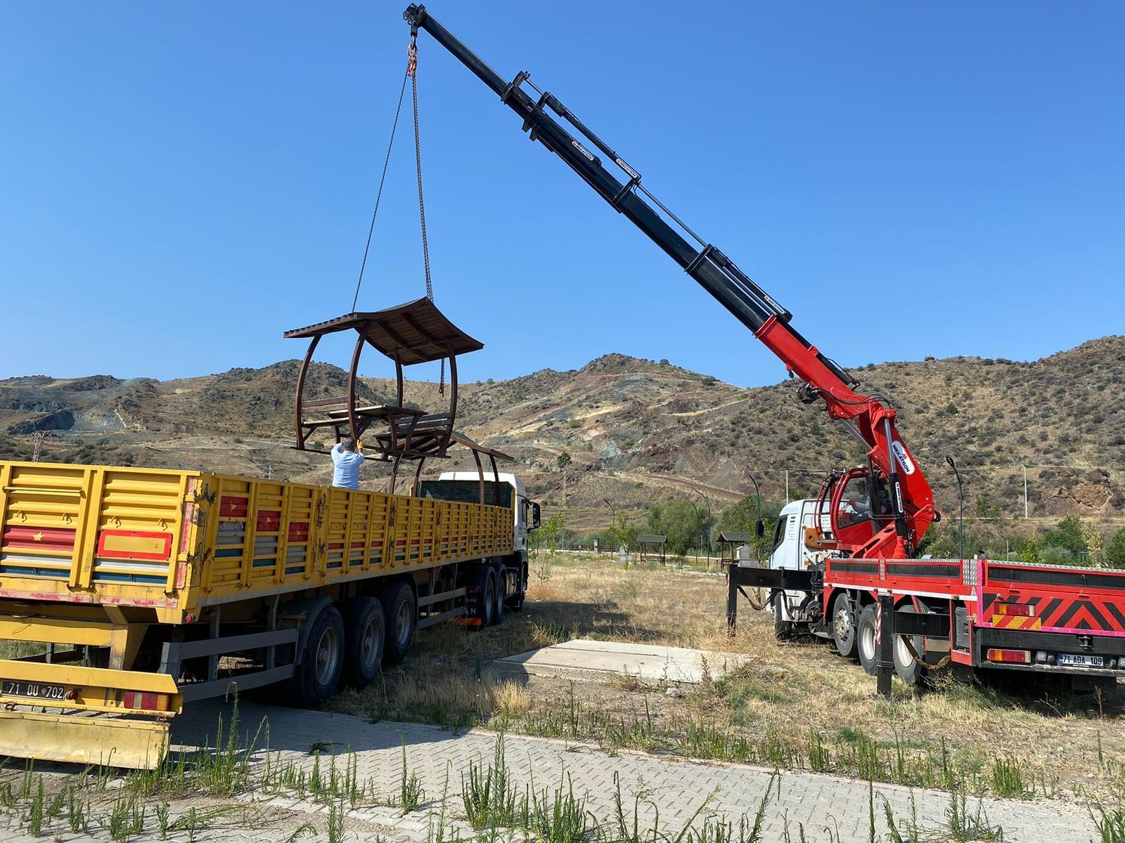
[[[704,664],[711,678],[718,679],[746,658],[737,653],[576,638],[497,659],[489,672],[496,678],[564,677],[590,681],[619,674],[645,685],[699,685],[703,681]]]

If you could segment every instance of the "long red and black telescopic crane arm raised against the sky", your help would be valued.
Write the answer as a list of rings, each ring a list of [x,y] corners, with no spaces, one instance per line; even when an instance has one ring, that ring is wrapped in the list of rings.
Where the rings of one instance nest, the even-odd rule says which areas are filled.
[[[507,82],[430,15],[424,6],[412,3],[403,18],[411,25],[412,37],[416,37],[418,30],[429,33],[490,88],[501,102],[520,116],[523,130],[532,140],[538,140],[558,155],[614,210],[637,226],[749,328],[785,364],[791,377],[803,381],[800,391],[803,401],[824,400],[829,416],[844,423],[867,448],[871,473],[888,491],[882,496],[885,509],[880,518],[873,520],[873,535],[854,543],[842,542],[842,549],[864,558],[909,556],[935,519],[935,511],[929,483],[898,435],[894,408],[875,396],[855,391],[860,382],[790,325],[792,315],[789,310],[750,280],[726,254],[699,238],[662,205],[641,185],[640,173],[554,94],[536,88],[528,72],[521,71]],[[529,94],[524,90],[525,84],[538,97]],[[585,143],[579,142],[557,118],[569,124]],[[603,155],[620,170],[621,176],[610,170],[601,157]],[[872,493],[873,502],[875,497]]]

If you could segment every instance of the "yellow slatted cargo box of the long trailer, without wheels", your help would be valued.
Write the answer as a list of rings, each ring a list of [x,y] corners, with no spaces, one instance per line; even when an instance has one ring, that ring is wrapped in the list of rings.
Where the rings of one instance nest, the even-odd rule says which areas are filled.
[[[0,600],[202,607],[512,552],[507,507],[163,469],[0,462]]]

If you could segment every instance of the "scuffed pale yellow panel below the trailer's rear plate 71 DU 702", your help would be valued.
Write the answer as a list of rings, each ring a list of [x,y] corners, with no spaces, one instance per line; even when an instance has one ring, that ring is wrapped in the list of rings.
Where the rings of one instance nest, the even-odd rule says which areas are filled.
[[[168,723],[0,711],[0,755],[152,770],[168,753]]]

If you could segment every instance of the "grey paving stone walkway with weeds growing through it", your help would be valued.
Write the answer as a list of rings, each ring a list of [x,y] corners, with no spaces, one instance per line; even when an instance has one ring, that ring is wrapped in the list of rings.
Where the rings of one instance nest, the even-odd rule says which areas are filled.
[[[174,723],[173,743],[191,746],[214,742],[220,713],[230,717],[227,706],[197,704],[192,711]],[[461,840],[474,836],[462,822],[461,777],[467,773],[470,762],[487,765],[492,761],[497,741],[495,733],[476,729],[452,733],[418,724],[370,723],[360,717],[246,704],[241,710],[240,732],[252,736],[263,718],[269,727],[271,764],[291,762],[308,772],[316,762],[314,750],[320,750],[323,772],[327,767],[326,756],[335,753],[339,768],[353,764],[358,779],[374,787],[376,800],[381,804],[360,804],[348,812],[345,841],[375,840],[375,835],[381,835],[402,843],[434,843],[443,789],[448,797],[444,800],[446,840],[451,833],[459,833]],[[406,816],[387,805],[399,791],[404,743],[407,768],[418,777],[425,791],[418,809]],[[349,752],[354,753],[353,759],[339,758]],[[807,772],[782,772],[774,779],[771,771],[746,764],[703,763],[633,752],[609,753],[586,745],[519,735],[504,738],[504,753],[513,779],[521,788],[533,780],[536,789],[554,789],[562,777],[567,777],[573,782],[575,796],[586,797],[586,807],[598,823],[611,822],[620,786],[630,818],[636,795],[644,794],[639,809],[641,830],[651,828],[658,809],[659,827],[675,836],[712,795],[696,824],[706,816],[724,817],[736,824],[737,841],[739,818],[744,814],[754,816],[772,782],[764,841],[784,840],[786,827],[796,841],[799,824],[810,843],[828,840],[866,843],[870,840],[866,783]],[[255,763],[263,762],[264,752],[259,752]],[[268,797],[261,792],[245,794],[240,800],[248,812],[244,816],[220,819],[198,831],[195,840],[200,843],[274,843],[289,840],[298,826],[309,822],[318,833],[309,832],[302,840],[327,840],[327,808],[323,805],[291,796]],[[918,825],[927,832],[924,839],[945,839],[942,832],[948,827],[948,794],[875,785],[876,839],[881,841],[888,839],[884,801],[900,819],[910,817],[916,810]],[[1063,801],[986,799],[980,808],[992,826],[1004,830],[1004,840],[1010,843],[1086,843],[1096,834],[1088,813]],[[183,806],[177,809],[182,810]],[[969,809],[975,815],[978,800],[970,800]],[[155,841],[158,835],[151,825],[147,833],[132,840]],[[44,836],[51,840],[53,831]],[[33,840],[15,825],[3,832],[2,821],[0,839],[14,843]],[[92,837],[68,832],[55,839],[64,843],[110,840],[108,830],[97,830]],[[187,841],[188,836],[180,831],[169,840]]]

